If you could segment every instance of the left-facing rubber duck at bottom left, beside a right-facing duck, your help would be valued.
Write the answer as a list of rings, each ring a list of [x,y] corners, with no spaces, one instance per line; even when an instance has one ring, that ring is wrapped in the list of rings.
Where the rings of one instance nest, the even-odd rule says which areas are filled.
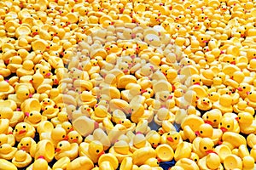
[[[55,149],[55,159],[59,160],[64,156],[67,156],[70,160],[73,160],[79,156],[79,144],[70,144],[68,141],[59,142],[57,144],[57,148]]]

